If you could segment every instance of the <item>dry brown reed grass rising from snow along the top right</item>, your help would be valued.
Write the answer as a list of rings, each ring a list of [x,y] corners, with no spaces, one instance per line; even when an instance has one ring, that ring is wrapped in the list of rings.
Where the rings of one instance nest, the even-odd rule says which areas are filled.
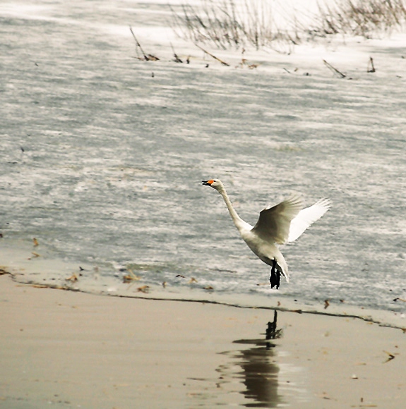
[[[406,0],[335,0],[321,3],[314,23],[291,16],[289,29],[275,22],[272,3],[266,0],[202,0],[200,6],[172,8],[172,28],[195,44],[210,43],[220,49],[294,46],[311,37],[362,35],[390,32],[406,26]]]

